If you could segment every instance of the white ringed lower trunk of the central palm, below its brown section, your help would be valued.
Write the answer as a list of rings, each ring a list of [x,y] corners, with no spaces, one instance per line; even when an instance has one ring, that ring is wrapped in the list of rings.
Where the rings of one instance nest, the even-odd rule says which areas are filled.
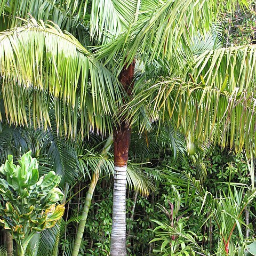
[[[111,231],[111,256],[126,255],[126,170],[127,166],[115,166],[113,191],[113,226]]]

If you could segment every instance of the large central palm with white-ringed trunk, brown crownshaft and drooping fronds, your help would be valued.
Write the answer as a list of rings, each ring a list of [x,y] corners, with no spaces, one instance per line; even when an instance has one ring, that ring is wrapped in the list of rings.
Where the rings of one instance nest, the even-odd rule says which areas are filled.
[[[247,7],[245,1],[238,2]],[[52,105],[58,130],[73,138],[78,129],[83,134],[114,131],[111,255],[125,255],[132,126],[138,125],[142,133],[150,130],[151,122],[167,119],[185,132],[188,145],[198,138],[237,151],[255,147],[255,46],[200,52],[191,45],[193,38],[210,33],[218,12],[232,3],[5,0],[0,5],[9,27],[24,22],[0,35],[9,122],[31,123],[30,115],[24,115],[28,108],[34,125],[47,129]],[[33,18],[11,18],[27,12],[71,34]],[[87,46],[94,48],[89,51]]]

